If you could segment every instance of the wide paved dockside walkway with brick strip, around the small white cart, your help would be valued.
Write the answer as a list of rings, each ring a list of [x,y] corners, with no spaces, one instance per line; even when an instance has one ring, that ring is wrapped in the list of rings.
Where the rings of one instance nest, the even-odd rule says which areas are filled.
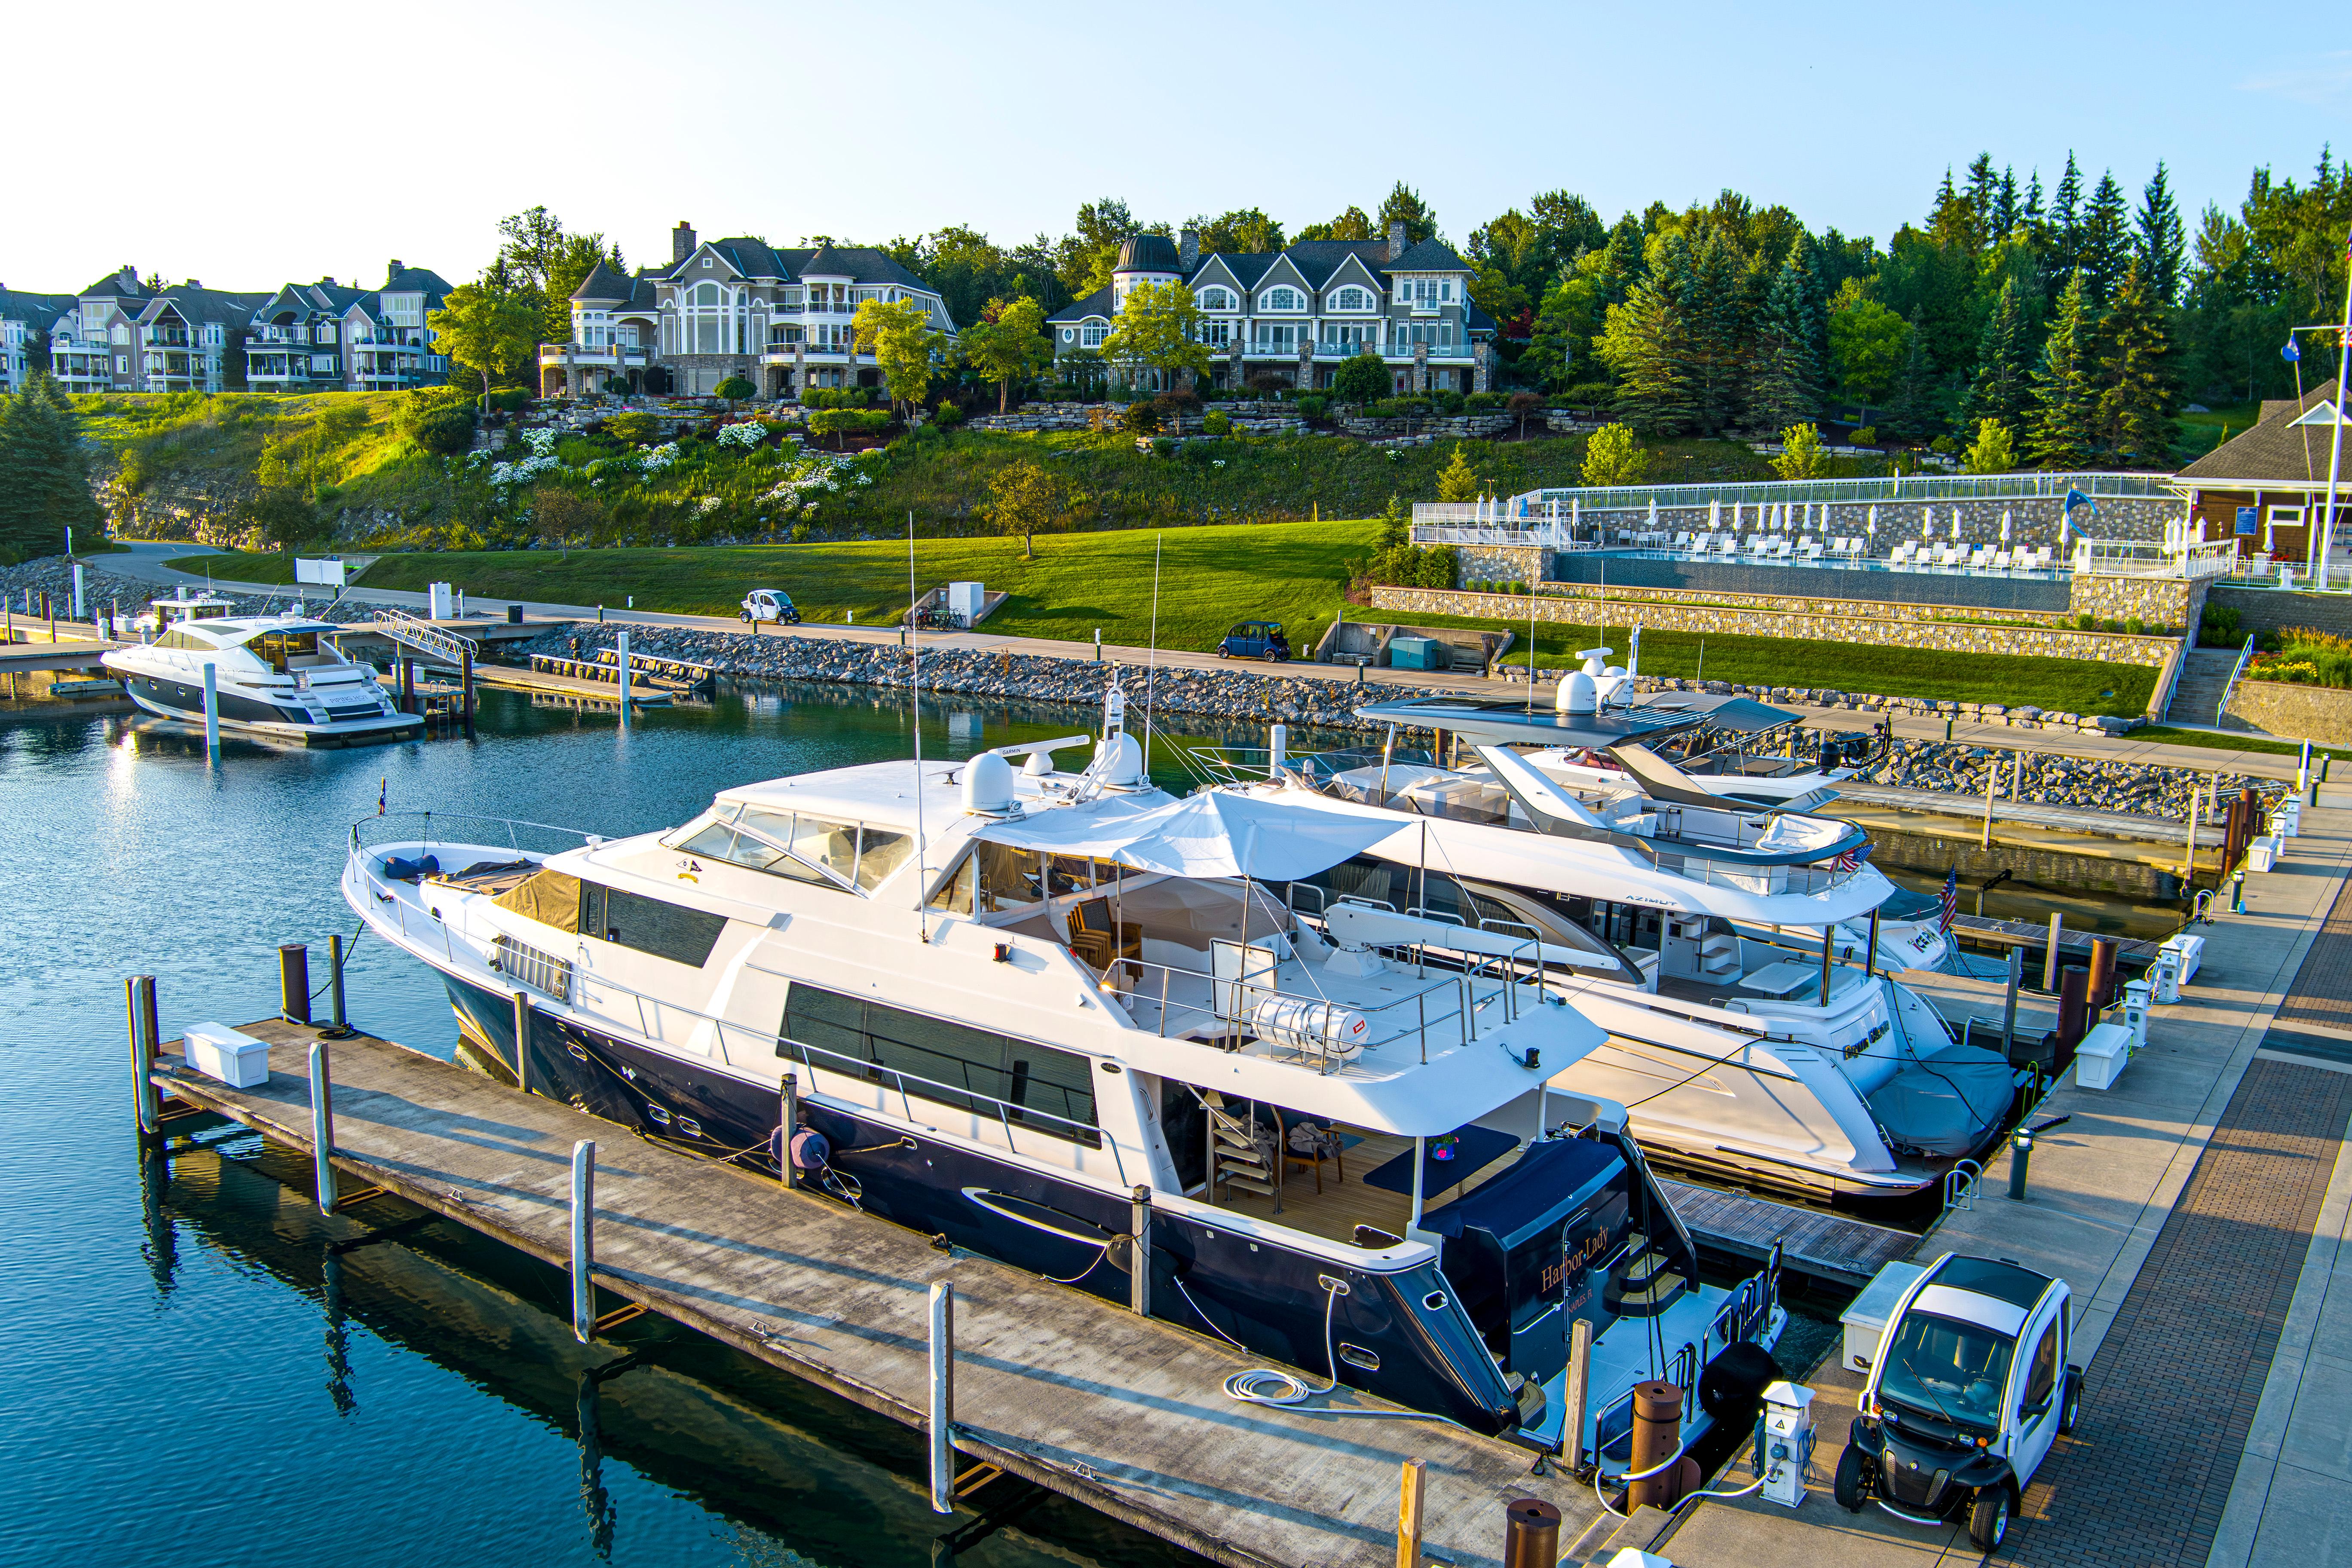
[[[2336,1338],[2326,1338],[2319,1307],[2300,1307],[2326,1295],[2307,1279],[2314,1237],[2343,1237],[2345,1194],[2328,1194],[2328,1175],[2352,1114],[2352,1074],[2317,1058],[2281,1060],[2291,1053],[2272,1032],[2291,994],[2352,969],[2352,931],[2336,931],[2338,905],[2352,910],[2347,804],[2331,790],[2305,813],[2288,860],[2249,879],[2249,912],[2204,929],[2204,969],[2187,1001],[2152,1009],[2150,1048],[2112,1091],[2065,1081],[2051,1093],[2042,1114],[2072,1119],[2037,1140],[2027,1199],[2006,1197],[2004,1152],[1976,1206],[1947,1215],[1915,1253],[2013,1258],[2074,1291],[2072,1359],[2089,1368],[2084,1425],[2027,1493],[2009,1547],[2018,1561],[2199,1563],[2209,1549],[2216,1563],[2277,1561],[2246,1549],[2225,1559],[2223,1549],[2291,1528],[2293,1502],[2265,1514],[2272,1490],[2300,1497],[2314,1476],[2352,1474],[2352,1354],[2343,1363],[2331,1354],[2352,1352],[2352,1321],[2331,1319]],[[1950,1013],[1999,1011],[1994,983],[1907,980]],[[2039,1023],[2020,1016],[2020,1027]],[[2352,1030],[2314,1048],[2336,1044],[2352,1058]],[[2328,1267],[2333,1258],[2328,1246]],[[2336,1305],[2352,1319],[2352,1300]],[[2256,1413],[2265,1378],[2288,1385],[2260,1394],[2267,1406],[2303,1413],[2291,1443],[2274,1415]],[[2326,1382],[2326,1394],[2296,1403],[2305,1378]],[[1653,1549],[1679,1568],[1978,1561],[1957,1526],[1922,1530],[1828,1500],[1860,1380],[1830,1356],[1811,1385],[1820,1490],[1806,1507],[1703,1502]],[[2263,1476],[2251,1497],[2241,1450],[2244,1469]],[[2343,1514],[2331,1528],[2352,1542],[2352,1500]],[[2328,1559],[2303,1549],[2291,1561],[2319,1568]]]

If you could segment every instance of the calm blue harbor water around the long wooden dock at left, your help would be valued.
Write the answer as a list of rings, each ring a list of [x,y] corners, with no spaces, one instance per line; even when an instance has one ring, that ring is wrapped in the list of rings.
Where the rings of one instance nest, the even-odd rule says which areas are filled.
[[[572,1342],[562,1274],[454,1225],[339,1255],[365,1227],[322,1218],[301,1161],[252,1135],[141,1180],[122,976],[158,976],[167,1037],[273,1011],[278,943],[322,966],[355,929],[343,832],[379,792],[619,835],[910,741],[901,705],[823,686],[727,691],[628,736],[506,691],[482,719],[473,745],[228,741],[207,769],[200,738],[143,717],[0,717],[0,1563],[941,1561],[920,1439],[894,1422],[652,1319],[623,1331],[644,1366],[597,1389],[583,1373],[612,1352]],[[927,755],[1087,729],[924,719]],[[456,1044],[442,987],[390,947],[358,945],[348,994],[379,1034]],[[1197,1559],[1044,1500],[960,1561]]]

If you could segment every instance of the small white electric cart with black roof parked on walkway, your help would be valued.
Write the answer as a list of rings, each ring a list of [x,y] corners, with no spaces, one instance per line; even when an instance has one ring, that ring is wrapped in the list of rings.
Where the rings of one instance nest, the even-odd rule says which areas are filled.
[[[1924,1526],[1966,1514],[1969,1540],[1999,1549],[2034,1469],[2082,1413],[2072,1335],[2063,1279],[1938,1258],[1886,1319],[1837,1458],[1839,1507],[1877,1502]]]

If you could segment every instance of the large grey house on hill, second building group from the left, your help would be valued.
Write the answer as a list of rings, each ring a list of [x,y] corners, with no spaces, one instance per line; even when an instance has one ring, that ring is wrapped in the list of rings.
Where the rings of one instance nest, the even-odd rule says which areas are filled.
[[[762,397],[804,388],[877,386],[849,317],[868,301],[920,301],[931,327],[953,336],[948,306],[887,254],[856,244],[776,249],[764,240],[696,240],[670,230],[670,266],[621,277],[597,266],[572,292],[572,341],[539,350],[541,393],[600,390],[621,376],[633,390],[708,395],[741,376]]]

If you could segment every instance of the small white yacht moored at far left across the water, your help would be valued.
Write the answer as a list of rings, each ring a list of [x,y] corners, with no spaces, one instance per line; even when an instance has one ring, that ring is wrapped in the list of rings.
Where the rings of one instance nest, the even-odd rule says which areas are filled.
[[[423,729],[393,708],[372,668],[334,646],[343,628],[228,611],[212,597],[155,599],[153,621],[141,616],[153,639],[111,649],[103,663],[134,703],[167,719],[205,722],[209,668],[221,729],[303,745],[407,741]]]

